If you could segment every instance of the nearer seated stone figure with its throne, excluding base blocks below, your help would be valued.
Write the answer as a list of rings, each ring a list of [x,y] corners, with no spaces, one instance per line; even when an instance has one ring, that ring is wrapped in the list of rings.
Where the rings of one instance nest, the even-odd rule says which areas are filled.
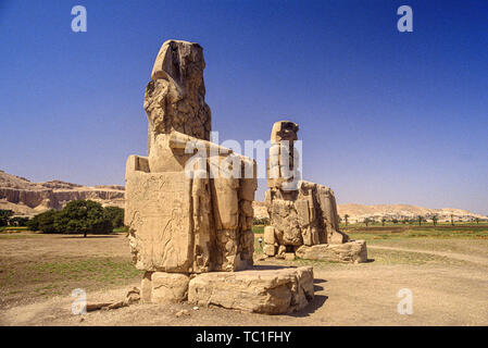
[[[168,40],[146,88],[148,156],[126,165],[125,224],[137,269],[202,273],[252,265],[255,162],[210,142],[198,44]]]

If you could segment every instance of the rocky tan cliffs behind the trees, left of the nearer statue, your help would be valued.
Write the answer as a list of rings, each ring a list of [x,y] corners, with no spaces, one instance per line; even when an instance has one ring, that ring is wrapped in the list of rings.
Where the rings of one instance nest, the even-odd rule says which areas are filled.
[[[124,187],[83,186],[61,181],[32,183],[0,170],[0,209],[13,210],[17,215],[34,215],[48,209],[61,209],[76,199],[123,208]]]

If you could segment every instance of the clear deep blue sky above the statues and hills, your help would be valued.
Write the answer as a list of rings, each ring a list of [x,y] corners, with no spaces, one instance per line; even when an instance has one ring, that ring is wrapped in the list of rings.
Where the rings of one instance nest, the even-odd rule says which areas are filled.
[[[88,32],[71,30],[71,9]],[[397,9],[413,9],[413,33]],[[306,179],[339,203],[488,214],[487,1],[0,2],[0,169],[123,184],[146,153],[161,44],[204,48],[221,140],[300,124]],[[264,183],[261,183],[264,184]],[[264,185],[258,199],[263,198]]]

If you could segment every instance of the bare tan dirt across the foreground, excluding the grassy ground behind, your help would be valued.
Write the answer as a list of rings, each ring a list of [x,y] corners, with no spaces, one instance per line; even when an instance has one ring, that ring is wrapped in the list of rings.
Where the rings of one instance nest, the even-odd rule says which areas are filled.
[[[487,270],[399,265],[315,269],[315,299],[289,315],[192,310],[187,303],[134,304],[73,315],[70,295],[0,313],[1,325],[488,325]],[[135,283],[135,286],[138,284]],[[413,314],[397,311],[401,288],[413,294]],[[88,294],[88,301],[122,299],[128,287]],[[176,318],[187,309],[190,315]]]

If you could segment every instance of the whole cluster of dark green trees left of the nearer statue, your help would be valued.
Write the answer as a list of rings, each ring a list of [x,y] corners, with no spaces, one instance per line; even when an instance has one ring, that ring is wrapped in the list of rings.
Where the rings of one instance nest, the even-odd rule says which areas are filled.
[[[27,222],[32,231],[43,233],[108,234],[124,225],[124,210],[91,200],[73,200],[61,211],[48,210]]]

